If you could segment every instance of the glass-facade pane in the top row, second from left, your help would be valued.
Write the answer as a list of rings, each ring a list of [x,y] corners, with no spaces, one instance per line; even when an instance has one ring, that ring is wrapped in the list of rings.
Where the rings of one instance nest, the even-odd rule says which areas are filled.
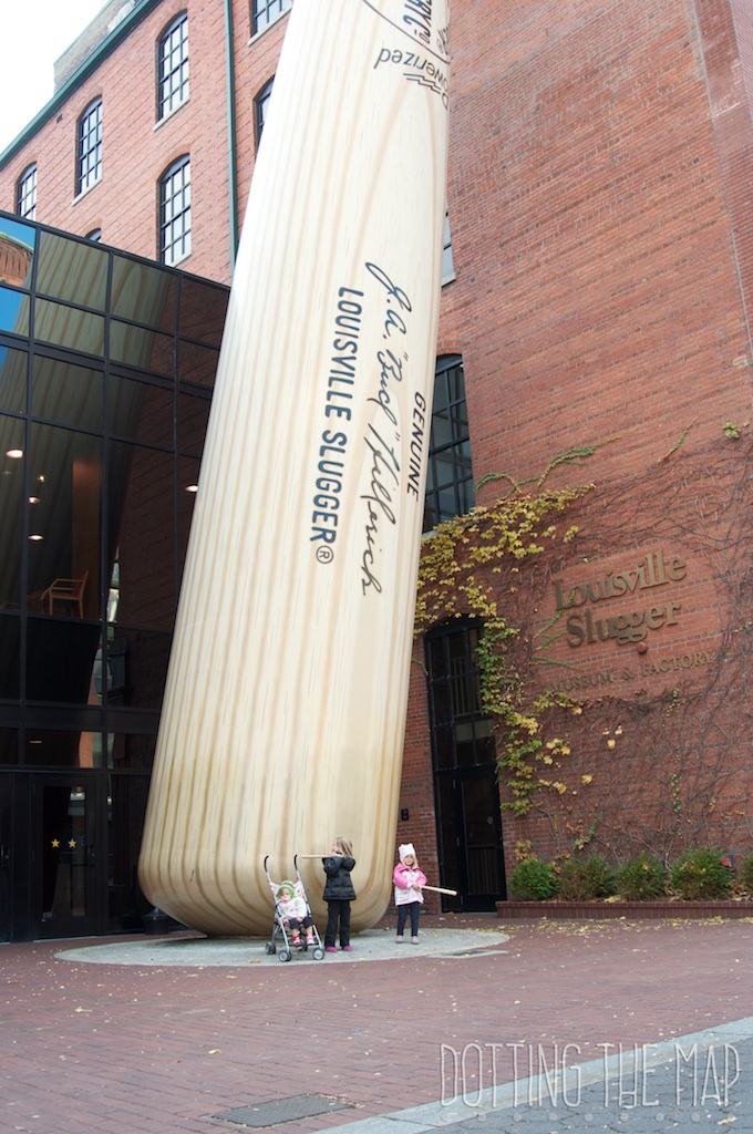
[[[81,307],[104,311],[108,254],[92,244],[40,232],[36,290]]]

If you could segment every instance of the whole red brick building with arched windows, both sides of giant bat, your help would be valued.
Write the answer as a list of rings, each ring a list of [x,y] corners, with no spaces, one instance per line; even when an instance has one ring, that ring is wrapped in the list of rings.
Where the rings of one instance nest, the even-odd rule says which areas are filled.
[[[0,154],[0,208],[24,212],[34,170],[37,221],[229,282],[288,8],[112,0]],[[462,0],[451,50],[438,357],[464,375],[475,499],[547,471],[594,485],[559,522],[574,539],[489,576],[522,711],[545,687],[575,699],[540,717],[527,813],[497,806],[473,626],[416,649],[431,695],[415,666],[398,835],[474,908],[518,841],[753,849],[753,14]]]

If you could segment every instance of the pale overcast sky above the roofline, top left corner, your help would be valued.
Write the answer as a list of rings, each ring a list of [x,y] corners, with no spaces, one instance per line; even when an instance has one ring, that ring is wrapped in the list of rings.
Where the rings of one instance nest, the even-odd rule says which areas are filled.
[[[104,0],[2,0],[0,152],[52,98],[54,60]]]

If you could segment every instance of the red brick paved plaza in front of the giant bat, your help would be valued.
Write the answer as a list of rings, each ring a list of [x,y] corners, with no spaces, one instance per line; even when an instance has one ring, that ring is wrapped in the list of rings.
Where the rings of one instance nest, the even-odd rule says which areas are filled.
[[[141,936],[0,946],[0,1131],[212,1134],[254,1128],[249,1112],[263,1125],[274,1101],[324,1097],[321,1105],[341,1107],[285,1120],[284,1106],[273,1128],[304,1134],[438,1103],[454,1089],[465,1106],[443,1120],[469,1120],[468,1100],[492,1085],[492,1051],[505,1084],[515,1078],[514,1058],[525,1078],[531,1059],[534,1070],[541,1058],[551,1067],[568,1044],[568,1063],[587,1064],[618,1050],[606,1044],[632,1050],[753,1016],[751,921],[426,916],[426,940],[466,931],[467,949],[452,932],[443,953],[398,947],[391,919],[382,925],[376,951],[361,942],[362,957],[375,959],[362,960],[358,938],[347,959],[289,964],[265,956],[260,941],[245,942],[247,959],[242,942],[215,942],[215,959],[202,965],[175,964],[174,949],[168,964],[129,963],[142,955],[135,950],[162,943]],[[127,963],[70,959],[113,947]],[[454,1088],[450,1066],[463,1059]],[[744,1064],[728,1107],[707,1068],[705,1106],[688,1129],[751,1128]],[[510,1128],[510,1114],[526,1117],[524,1107],[494,1111],[489,1127],[497,1119]],[[655,1109],[646,1115],[645,1128],[659,1128]],[[549,1112],[538,1116],[542,1131],[578,1128],[566,1125],[572,1115],[558,1112],[553,1124]]]

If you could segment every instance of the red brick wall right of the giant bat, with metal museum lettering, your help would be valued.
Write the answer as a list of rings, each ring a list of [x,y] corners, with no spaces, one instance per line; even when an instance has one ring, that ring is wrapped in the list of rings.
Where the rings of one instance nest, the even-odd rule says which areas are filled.
[[[523,627],[517,660],[531,666],[556,613],[555,579],[567,595],[661,549],[687,565],[592,608],[606,625],[678,603],[645,642],[547,651],[539,684],[599,703],[551,721],[572,745],[551,773],[567,789],[528,819],[504,813],[508,877],[518,839],[544,856],[583,839],[623,856],[748,852],[751,447],[722,425],[751,416],[750,6],[469,0],[452,36],[457,279],[440,353],[463,354],[474,475],[524,480],[610,442],[548,480],[597,485],[572,549],[544,557],[523,598],[498,583]],[[420,729],[409,718],[412,764]]]

